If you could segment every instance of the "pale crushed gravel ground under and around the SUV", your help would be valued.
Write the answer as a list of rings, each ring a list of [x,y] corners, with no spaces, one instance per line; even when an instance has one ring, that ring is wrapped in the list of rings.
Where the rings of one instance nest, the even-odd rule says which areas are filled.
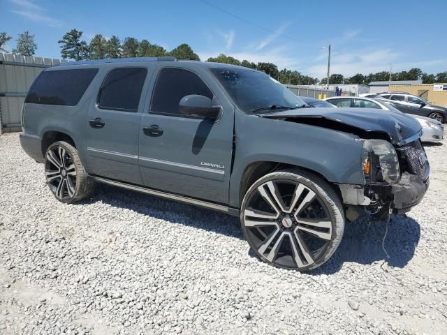
[[[237,218],[98,186],[62,204],[0,137],[0,334],[447,334],[447,145],[409,216],[348,223],[320,269],[276,269]]]

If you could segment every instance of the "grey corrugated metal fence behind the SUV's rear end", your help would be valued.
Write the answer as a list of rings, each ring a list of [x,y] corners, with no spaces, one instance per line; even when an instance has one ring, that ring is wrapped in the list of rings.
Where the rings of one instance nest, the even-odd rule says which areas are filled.
[[[60,59],[0,53],[0,134],[20,131],[20,115],[27,91],[34,78]]]

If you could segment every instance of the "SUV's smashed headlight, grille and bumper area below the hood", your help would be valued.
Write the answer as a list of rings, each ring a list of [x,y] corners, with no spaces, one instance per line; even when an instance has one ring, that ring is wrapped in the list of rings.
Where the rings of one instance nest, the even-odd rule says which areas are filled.
[[[365,199],[357,203],[349,200],[353,189],[340,185],[347,200],[345,204],[349,204],[346,217],[350,221],[365,212],[374,220],[389,221],[390,214],[404,214],[422,200],[430,183],[430,164],[416,137],[412,142],[402,141],[395,146],[385,140],[365,140],[362,155],[365,185],[356,188]]]

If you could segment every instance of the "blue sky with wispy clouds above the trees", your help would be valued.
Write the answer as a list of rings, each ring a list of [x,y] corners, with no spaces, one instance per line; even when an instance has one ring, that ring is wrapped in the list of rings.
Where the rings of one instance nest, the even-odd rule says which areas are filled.
[[[147,39],[167,50],[191,45],[200,59],[227,54],[272,62],[305,75],[447,70],[447,0],[394,1],[66,1],[0,0],[0,31],[15,47],[23,31],[35,35],[36,56],[60,58],[57,41],[75,28]]]

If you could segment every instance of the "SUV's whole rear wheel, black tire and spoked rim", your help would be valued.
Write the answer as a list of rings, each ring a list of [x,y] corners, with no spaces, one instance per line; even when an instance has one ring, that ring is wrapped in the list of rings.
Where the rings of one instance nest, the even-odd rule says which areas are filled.
[[[45,177],[54,197],[72,204],[87,198],[94,188],[73,145],[59,141],[48,147],[45,154]]]

